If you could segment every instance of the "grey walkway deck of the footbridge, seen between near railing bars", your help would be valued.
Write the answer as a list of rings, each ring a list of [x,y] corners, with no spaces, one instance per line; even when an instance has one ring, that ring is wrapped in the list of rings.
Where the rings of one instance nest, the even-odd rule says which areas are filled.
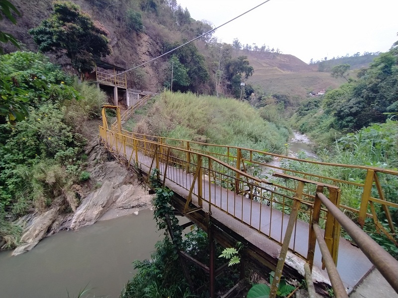
[[[121,147],[122,143],[118,143],[117,149]],[[113,145],[113,149],[117,150],[115,144]],[[133,148],[127,146],[125,150],[127,156],[132,155]],[[120,155],[120,157],[123,156]],[[140,169],[146,174],[149,173],[150,169],[147,165],[151,163],[151,159],[151,156],[138,152],[137,161],[140,164]],[[134,166],[135,160],[130,161],[130,164]],[[159,172],[164,173],[165,168],[165,162],[159,162]],[[163,179],[164,176],[160,174],[160,180]],[[263,250],[267,254],[271,252],[275,258],[278,258],[280,249],[275,249],[274,243],[267,236],[282,240],[285,236],[289,216],[277,209],[260,204],[246,197],[236,200],[235,192],[214,183],[210,183],[209,187],[208,179],[206,180],[202,181],[203,199],[205,200],[202,209],[209,210],[209,205],[217,207],[211,209],[212,218],[241,235],[247,242],[256,245],[260,250]],[[187,196],[186,191],[190,189],[193,181],[194,173],[188,173],[183,169],[177,169],[170,165],[167,166],[165,185],[176,193]],[[198,193],[198,190],[199,186],[198,182],[196,182],[193,192]],[[209,204],[206,204],[206,202],[209,202]],[[195,200],[193,203],[195,207],[199,207],[198,200]],[[253,228],[264,235],[254,231]],[[308,235],[309,224],[297,220],[289,247],[300,255],[306,255],[308,251]],[[299,262],[299,259],[293,254],[290,255],[290,258],[293,258],[292,262]],[[301,264],[301,266],[303,265]],[[318,282],[329,284],[326,270],[321,269],[322,261],[318,245],[316,245],[314,255],[314,266],[318,269],[314,273],[316,274],[314,279]],[[337,270],[348,293],[355,288],[372,268],[372,263],[358,247],[352,245],[346,239],[340,238]]]

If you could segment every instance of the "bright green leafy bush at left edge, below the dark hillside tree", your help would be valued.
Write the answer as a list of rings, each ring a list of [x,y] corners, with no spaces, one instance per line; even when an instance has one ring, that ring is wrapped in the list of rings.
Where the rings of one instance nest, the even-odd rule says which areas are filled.
[[[0,56],[0,123],[23,120],[29,106],[77,97],[68,78],[44,55],[14,52]]]

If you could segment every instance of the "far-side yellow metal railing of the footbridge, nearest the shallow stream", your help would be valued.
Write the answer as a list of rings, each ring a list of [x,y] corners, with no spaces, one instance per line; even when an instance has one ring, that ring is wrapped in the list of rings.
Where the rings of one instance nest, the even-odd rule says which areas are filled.
[[[362,227],[365,224],[366,218],[372,219],[373,223],[376,225],[376,229],[385,233],[386,236],[395,243],[395,245],[398,245],[395,238],[397,223],[394,223],[389,210],[389,208],[393,208],[395,210],[398,209],[398,204],[393,202],[393,200],[397,200],[397,198],[394,195],[394,191],[391,192],[390,196],[386,196],[382,185],[388,185],[389,181],[398,181],[398,171],[396,170],[362,165],[335,164],[304,160],[254,149],[148,136],[124,130],[122,133],[138,140],[150,140],[165,146],[172,145],[174,147],[184,148],[188,150],[188,155],[192,154],[192,152],[197,152],[213,156],[218,160],[233,165],[234,167],[250,173],[253,176],[262,177],[263,180],[272,182],[274,187],[279,189],[289,189],[289,187],[286,187],[286,184],[283,183],[281,179],[275,179],[275,177],[283,179],[295,179],[295,177],[304,178],[316,183],[337,186],[341,189],[342,197],[344,199],[342,202],[336,202],[339,208],[345,210],[345,213],[358,221]],[[264,161],[270,160],[270,158],[278,159],[279,164]],[[307,168],[307,171],[295,170],[295,163],[304,165],[303,167]],[[292,164],[293,167],[290,168],[289,165]],[[323,167],[323,169],[328,172],[328,176],[316,174],[316,169],[318,167]],[[314,173],[311,173],[311,170],[313,170]],[[363,181],[351,179],[357,176],[363,176]],[[382,179],[383,183],[381,182]],[[309,199],[307,203],[310,205],[315,197],[316,185],[309,184],[306,186],[303,196],[304,198]],[[346,193],[344,193],[345,191]],[[347,194],[355,194],[356,198],[350,197]],[[348,201],[354,201],[354,199],[357,201],[357,206],[348,206]],[[378,218],[376,212],[378,209],[383,209],[383,213],[385,215],[384,219]],[[387,221],[388,229],[381,224],[384,221]]]

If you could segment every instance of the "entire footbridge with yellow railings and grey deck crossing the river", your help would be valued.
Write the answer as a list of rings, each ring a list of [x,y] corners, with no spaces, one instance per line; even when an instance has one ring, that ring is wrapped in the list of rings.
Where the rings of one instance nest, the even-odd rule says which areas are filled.
[[[104,112],[102,115],[105,118]],[[118,117],[120,121],[120,116]],[[398,205],[386,200],[378,174],[389,174],[396,178],[397,171],[322,164],[332,166],[333,169],[344,166],[348,171],[363,171],[366,182],[361,184],[271,166],[274,167],[271,181],[252,175],[254,171],[249,167],[255,168],[257,161],[252,158],[255,154],[276,154],[232,147],[222,148],[224,153],[212,153],[204,147],[213,145],[199,144],[200,146],[194,148],[192,143],[195,142],[190,144],[183,140],[132,134],[122,131],[120,122],[116,128],[109,130],[106,120],[103,122],[103,127],[100,127],[102,143],[120,162],[127,167],[133,167],[146,179],[149,179],[156,168],[157,178],[175,194],[172,203],[177,211],[205,231],[209,231],[210,222],[211,233],[214,233],[216,241],[224,247],[235,246],[236,241],[242,242],[245,245],[245,257],[261,269],[268,268],[268,272],[278,272],[278,266],[283,259],[284,275],[299,278],[304,276],[304,264],[309,264],[313,280],[316,283],[332,284],[335,290],[334,274],[329,272],[330,261],[325,257],[324,248],[320,249],[319,242],[324,243],[321,246],[327,247],[331,263],[336,263],[342,281],[340,288],[344,287],[344,292],[351,293],[372,271],[372,262],[389,283],[396,287],[395,279],[389,276],[389,272],[395,274],[397,261],[374,243],[381,249],[377,250],[375,255],[383,255],[385,263],[378,266],[377,262],[371,262],[369,253],[366,253],[366,256],[363,252],[366,251],[366,247],[361,246],[360,239],[356,240],[355,236],[356,233],[365,233],[355,224],[359,231],[355,230],[352,233],[351,227],[344,224],[345,221],[352,221],[349,218],[339,219],[338,212],[343,214],[339,210],[343,209],[357,214],[360,223],[364,222],[365,218],[371,218],[378,231],[388,234],[378,221],[374,206],[376,203],[381,204],[381,210],[385,210],[389,221],[390,211],[385,206],[397,208]],[[243,150],[248,152],[242,153]],[[213,151],[220,150],[216,148]],[[257,163],[260,169],[268,166]],[[340,186],[345,184],[363,193],[362,201],[365,204],[362,203],[360,210],[340,203]],[[379,191],[379,198],[371,196],[371,191],[375,189]],[[333,208],[337,209],[337,213]],[[293,214],[291,221],[290,215]],[[340,237],[340,224],[359,247]],[[391,234],[395,235],[394,223],[391,221],[389,224]],[[324,229],[319,229],[319,226]],[[290,233],[292,236],[289,236]],[[289,237],[288,240],[285,238],[286,235]],[[282,257],[287,243],[289,251]],[[373,248],[374,244],[368,246]],[[383,268],[390,265],[391,270],[388,269],[386,274]]]

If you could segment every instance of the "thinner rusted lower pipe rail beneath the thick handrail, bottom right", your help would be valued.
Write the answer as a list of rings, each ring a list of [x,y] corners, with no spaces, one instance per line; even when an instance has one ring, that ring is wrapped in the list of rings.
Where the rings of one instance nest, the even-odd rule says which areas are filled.
[[[340,275],[337,271],[336,265],[334,264],[333,258],[330,255],[329,249],[323,239],[322,231],[317,224],[312,224],[314,232],[316,235],[316,240],[318,240],[319,249],[322,253],[323,261],[326,265],[327,275],[329,276],[330,283],[332,284],[333,294],[336,298],[348,298],[347,292],[343,282],[341,281]]]

